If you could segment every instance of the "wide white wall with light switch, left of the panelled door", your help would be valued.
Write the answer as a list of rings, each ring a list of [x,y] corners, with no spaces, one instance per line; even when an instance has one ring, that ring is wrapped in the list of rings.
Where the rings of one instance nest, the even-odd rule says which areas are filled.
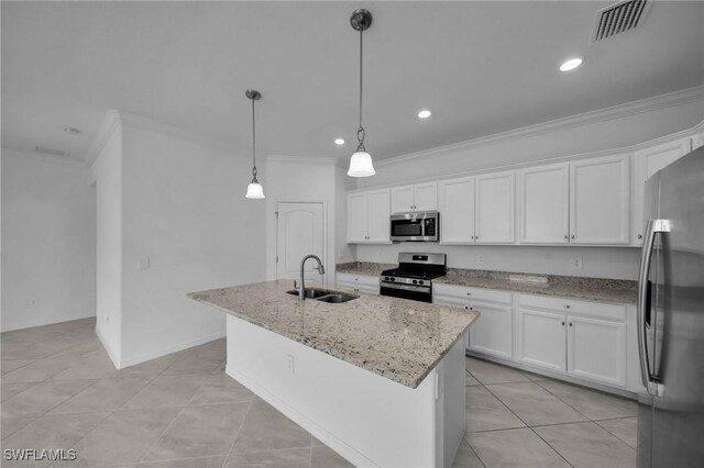
[[[223,312],[186,293],[263,280],[265,244],[263,207],[244,198],[246,149],[220,149],[141,118],[120,121],[120,305],[109,324],[99,313],[98,327],[119,319],[111,357],[128,367],[224,336]],[[99,190],[101,182],[98,174]],[[106,254],[99,249],[99,265]],[[117,281],[99,270],[99,291]]]

